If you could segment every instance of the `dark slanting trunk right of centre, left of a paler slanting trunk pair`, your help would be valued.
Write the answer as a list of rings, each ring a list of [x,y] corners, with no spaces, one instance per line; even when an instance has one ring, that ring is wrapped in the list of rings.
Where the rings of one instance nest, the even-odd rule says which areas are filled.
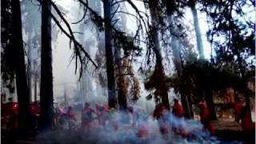
[[[162,84],[159,86],[160,90],[160,96],[162,98],[162,104],[166,107],[166,109],[170,110],[170,103],[166,88],[166,75],[163,69],[162,65],[162,54],[161,54],[161,48],[159,43],[159,35],[158,35],[158,1],[157,0],[150,0],[149,1],[149,7],[150,7],[150,17],[151,17],[151,23],[152,23],[152,38],[154,41],[154,54],[156,56],[156,65],[155,65],[155,71],[162,73]]]

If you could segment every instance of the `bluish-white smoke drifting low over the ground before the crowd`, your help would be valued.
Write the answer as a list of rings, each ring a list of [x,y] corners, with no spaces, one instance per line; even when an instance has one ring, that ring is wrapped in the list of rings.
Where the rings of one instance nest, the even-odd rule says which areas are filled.
[[[210,135],[202,128],[200,122],[186,120],[184,118],[176,118],[172,114],[166,115],[170,131],[167,134],[161,134],[159,131],[158,121],[154,120],[150,115],[140,113],[138,118],[133,121],[134,114],[127,115],[120,111],[114,110],[110,112],[111,116],[106,120],[105,126],[92,125],[90,131],[88,129],[80,129],[78,125],[74,130],[53,130],[45,134],[38,135],[39,143],[206,143],[217,144],[224,143],[218,138]],[[98,117],[100,118],[100,117]],[[128,121],[124,122],[125,120]],[[97,119],[97,118],[96,118]],[[96,120],[97,121],[97,120]],[[96,122],[97,123],[97,122]],[[185,128],[188,135],[185,137],[171,131],[171,127]],[[148,137],[139,136],[140,130],[146,130]],[[242,142],[226,142],[226,143],[242,143]]]

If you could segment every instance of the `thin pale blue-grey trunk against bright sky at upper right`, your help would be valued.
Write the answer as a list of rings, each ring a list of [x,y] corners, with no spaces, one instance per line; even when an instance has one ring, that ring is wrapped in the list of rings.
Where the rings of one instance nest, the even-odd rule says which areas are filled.
[[[201,37],[201,31],[200,31],[200,26],[198,21],[198,12],[195,8],[195,0],[190,0],[189,5],[190,5],[190,10],[192,11],[193,19],[194,19],[194,31],[197,38],[198,54],[200,58],[204,59],[205,55],[202,47],[202,37]]]

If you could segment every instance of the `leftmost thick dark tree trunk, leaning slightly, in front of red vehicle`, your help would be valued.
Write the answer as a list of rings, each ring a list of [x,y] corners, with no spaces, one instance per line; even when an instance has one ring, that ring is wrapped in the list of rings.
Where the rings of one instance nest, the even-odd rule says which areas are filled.
[[[22,40],[22,18],[19,0],[11,1],[12,49],[14,51],[16,86],[18,95],[18,126],[22,130],[31,128],[30,95],[26,82],[26,65]]]

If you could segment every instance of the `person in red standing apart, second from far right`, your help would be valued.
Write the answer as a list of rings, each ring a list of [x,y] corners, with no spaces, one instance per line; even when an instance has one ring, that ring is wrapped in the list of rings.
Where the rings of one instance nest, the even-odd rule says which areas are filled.
[[[204,126],[205,130],[209,130],[210,134],[215,134],[214,127],[211,125],[210,122],[210,110],[206,105],[206,101],[202,98],[202,101],[198,103],[198,107],[200,109],[200,120],[202,125]]]

